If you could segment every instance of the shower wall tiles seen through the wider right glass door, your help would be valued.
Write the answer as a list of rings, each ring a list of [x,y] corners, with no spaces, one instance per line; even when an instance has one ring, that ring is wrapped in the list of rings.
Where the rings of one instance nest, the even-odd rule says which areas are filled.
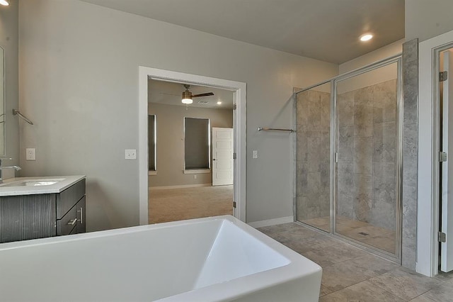
[[[337,96],[337,215],[389,230],[396,215],[396,89],[394,79]]]

